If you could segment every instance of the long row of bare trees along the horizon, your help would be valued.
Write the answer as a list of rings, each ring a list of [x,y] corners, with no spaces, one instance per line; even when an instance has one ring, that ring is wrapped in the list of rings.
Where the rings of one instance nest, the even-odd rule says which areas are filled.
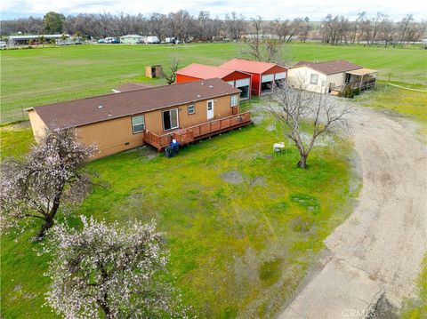
[[[44,18],[20,18],[1,21],[1,35],[67,33],[85,38],[104,38],[137,34],[175,37],[183,42],[209,42],[218,40],[242,40],[254,32],[263,37],[276,38],[283,42],[318,40],[327,44],[389,44],[415,43],[423,40],[427,20],[416,21],[408,14],[400,21],[393,21],[383,13],[370,16],[360,12],[356,20],[342,15],[328,14],[321,21],[308,17],[294,20],[263,20],[262,17],[246,20],[242,14],[230,12],[225,19],[213,18],[209,12],[198,15],[180,10],[168,14],[153,12],[143,14],[81,13],[65,16],[48,12]]]

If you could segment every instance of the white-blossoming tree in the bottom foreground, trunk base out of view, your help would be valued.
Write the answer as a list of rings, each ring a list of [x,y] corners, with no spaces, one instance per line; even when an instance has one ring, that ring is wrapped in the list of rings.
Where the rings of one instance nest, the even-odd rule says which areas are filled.
[[[82,230],[58,224],[44,251],[52,254],[47,304],[66,318],[186,317],[167,274],[163,235],[154,222],[125,227],[82,217]]]

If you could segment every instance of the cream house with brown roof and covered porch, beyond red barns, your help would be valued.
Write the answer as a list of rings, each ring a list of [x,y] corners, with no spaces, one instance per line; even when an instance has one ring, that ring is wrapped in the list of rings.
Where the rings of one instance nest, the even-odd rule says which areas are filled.
[[[375,86],[377,70],[362,68],[346,60],[300,61],[289,68],[287,83],[318,93],[342,92],[347,86],[366,90]]]

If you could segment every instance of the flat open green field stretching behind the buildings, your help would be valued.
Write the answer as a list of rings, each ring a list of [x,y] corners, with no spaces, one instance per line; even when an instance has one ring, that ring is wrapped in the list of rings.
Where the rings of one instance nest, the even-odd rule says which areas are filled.
[[[380,79],[427,85],[427,52],[363,46],[289,44],[285,60],[346,59],[380,70]],[[2,123],[22,120],[22,109],[101,93],[122,82],[149,81],[145,66],[176,57],[218,65],[239,56],[238,44],[78,45],[0,52]],[[152,80],[151,80],[152,81]],[[162,80],[154,82],[162,83]]]

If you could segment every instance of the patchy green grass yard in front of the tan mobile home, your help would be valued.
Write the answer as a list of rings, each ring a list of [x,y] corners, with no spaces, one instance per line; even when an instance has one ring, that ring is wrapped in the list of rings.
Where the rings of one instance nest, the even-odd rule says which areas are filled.
[[[29,129],[16,132],[2,141],[4,156],[28,148]],[[317,148],[305,171],[295,168],[293,147],[271,154],[278,140],[281,133],[264,120],[184,148],[172,159],[142,148],[97,160],[89,167],[109,187],[94,189],[79,210],[120,222],[156,219],[171,252],[174,283],[201,317],[274,315],[322,240],[347,217],[359,189],[349,142]],[[19,151],[12,148],[16,142]],[[2,235],[5,318],[53,316],[41,307],[49,280],[43,275],[47,257],[28,242],[35,231]]]

